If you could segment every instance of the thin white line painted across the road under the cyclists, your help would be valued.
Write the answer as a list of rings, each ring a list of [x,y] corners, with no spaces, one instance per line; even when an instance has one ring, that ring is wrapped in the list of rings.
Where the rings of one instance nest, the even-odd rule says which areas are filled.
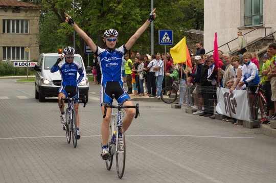
[[[86,135],[82,137],[96,137],[102,135]],[[126,135],[126,136],[190,136],[190,137],[203,137],[203,138],[229,138],[229,139],[255,139],[255,138],[246,138],[241,136],[198,136],[198,135]],[[0,140],[5,139],[35,139],[35,138],[64,138],[65,136],[27,136],[27,137],[20,137],[20,138],[2,138]]]

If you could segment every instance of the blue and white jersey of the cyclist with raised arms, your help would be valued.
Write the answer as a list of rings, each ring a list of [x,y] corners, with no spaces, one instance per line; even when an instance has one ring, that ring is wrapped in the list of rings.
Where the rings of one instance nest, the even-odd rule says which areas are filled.
[[[101,83],[107,81],[123,81],[121,72],[122,60],[126,52],[125,45],[114,50],[97,47],[95,54],[98,57],[102,72]]]

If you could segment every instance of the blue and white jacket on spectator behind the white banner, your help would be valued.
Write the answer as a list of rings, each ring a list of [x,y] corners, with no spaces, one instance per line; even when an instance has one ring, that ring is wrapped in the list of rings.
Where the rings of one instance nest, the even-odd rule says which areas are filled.
[[[258,85],[260,83],[260,77],[257,65],[249,61],[242,66],[242,79],[246,86]]]

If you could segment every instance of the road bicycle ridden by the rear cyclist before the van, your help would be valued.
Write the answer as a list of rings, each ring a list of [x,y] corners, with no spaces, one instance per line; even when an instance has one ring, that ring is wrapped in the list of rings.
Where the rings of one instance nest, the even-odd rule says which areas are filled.
[[[70,93],[68,93],[68,96],[70,96]],[[71,142],[71,134],[72,134],[72,141],[73,145],[76,148],[77,147],[77,117],[76,117],[76,111],[75,111],[75,100],[82,100],[84,102],[83,107],[86,105],[86,99],[84,98],[63,98],[61,97],[61,105],[60,108],[62,108],[63,101],[68,101],[68,107],[66,108],[65,112],[65,126],[63,126],[63,129],[66,132],[66,138],[67,143],[70,144]]]

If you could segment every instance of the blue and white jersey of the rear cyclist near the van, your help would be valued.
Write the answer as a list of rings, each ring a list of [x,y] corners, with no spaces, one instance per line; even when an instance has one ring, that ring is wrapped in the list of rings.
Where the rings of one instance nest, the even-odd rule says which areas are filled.
[[[61,61],[58,65],[54,64],[51,68],[51,73],[57,72],[58,70],[61,74],[62,86],[78,86],[84,76],[81,64],[76,61],[73,61],[72,63]],[[78,73],[80,76],[77,80]]]

